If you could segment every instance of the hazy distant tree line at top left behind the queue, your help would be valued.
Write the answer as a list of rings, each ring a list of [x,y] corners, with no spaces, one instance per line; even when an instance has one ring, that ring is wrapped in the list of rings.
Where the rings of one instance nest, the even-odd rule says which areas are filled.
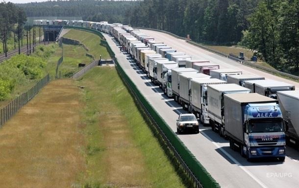
[[[138,1],[67,0],[17,4],[28,17],[82,17],[84,21],[123,23],[125,13]]]

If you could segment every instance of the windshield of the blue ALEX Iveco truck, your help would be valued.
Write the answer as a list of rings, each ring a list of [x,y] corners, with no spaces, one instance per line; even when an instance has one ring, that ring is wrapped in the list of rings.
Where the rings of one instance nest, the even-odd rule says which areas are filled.
[[[259,133],[259,132],[282,132],[283,124],[282,121],[254,121],[249,123],[249,132],[250,133]]]

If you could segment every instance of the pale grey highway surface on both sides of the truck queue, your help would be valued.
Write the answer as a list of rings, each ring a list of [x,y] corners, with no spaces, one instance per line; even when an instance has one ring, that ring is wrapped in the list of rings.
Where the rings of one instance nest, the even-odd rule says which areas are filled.
[[[213,63],[218,63],[221,68],[239,69],[243,73],[284,81],[299,88],[299,83],[249,68],[170,35],[150,30],[142,31],[158,41],[165,42],[177,51],[186,52],[194,59],[207,59]],[[186,111],[173,99],[167,98],[158,86],[151,84],[148,77],[133,63],[129,55],[119,51],[119,47],[111,36],[106,34],[104,36],[126,74],[134,81],[149,103],[154,106],[175,133],[175,121],[178,114],[186,113]],[[210,127],[201,125],[199,128],[199,134],[182,134],[178,137],[222,188],[298,188],[299,151],[287,147],[287,157],[283,163],[277,161],[247,162],[238,152],[231,150],[228,141],[213,132]]]

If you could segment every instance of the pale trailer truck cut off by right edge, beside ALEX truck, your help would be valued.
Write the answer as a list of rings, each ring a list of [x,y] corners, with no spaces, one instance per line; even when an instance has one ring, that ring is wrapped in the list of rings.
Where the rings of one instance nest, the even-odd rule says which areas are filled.
[[[299,149],[299,90],[277,91],[282,117],[288,122],[286,143]]]

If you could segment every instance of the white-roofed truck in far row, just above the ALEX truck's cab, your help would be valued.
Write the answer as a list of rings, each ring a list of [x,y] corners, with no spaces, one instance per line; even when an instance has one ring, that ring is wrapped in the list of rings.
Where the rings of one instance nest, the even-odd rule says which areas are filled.
[[[252,93],[258,93],[273,99],[277,99],[277,91],[295,90],[295,85],[275,80],[248,80],[244,86],[251,89]]]

